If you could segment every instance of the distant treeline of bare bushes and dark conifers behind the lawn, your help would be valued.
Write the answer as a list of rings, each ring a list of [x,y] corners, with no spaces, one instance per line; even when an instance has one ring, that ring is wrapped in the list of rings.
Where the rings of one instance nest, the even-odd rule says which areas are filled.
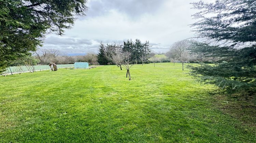
[[[154,56],[150,49],[150,44],[148,41],[142,43],[139,39],[132,41],[131,39],[124,41],[124,43],[119,44],[117,42],[112,43],[100,43],[99,53],[87,52],[85,55],[75,55],[69,56],[65,52],[61,52],[56,49],[43,49],[39,48],[37,51],[27,55],[25,57],[20,57],[14,60],[10,66],[20,66],[20,65],[46,65],[49,63],[55,64],[73,64],[75,62],[88,62],[89,64],[115,64],[106,58],[105,53],[107,50],[116,48],[123,52],[131,53],[132,64],[137,63],[149,63],[148,59]]]

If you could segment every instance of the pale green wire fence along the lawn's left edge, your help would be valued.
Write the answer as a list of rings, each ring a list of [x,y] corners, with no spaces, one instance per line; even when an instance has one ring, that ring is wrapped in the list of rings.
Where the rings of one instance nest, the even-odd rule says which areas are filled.
[[[63,64],[57,65],[58,68],[74,67],[74,64]],[[35,65],[35,66],[11,66],[6,68],[3,74],[9,73],[22,73],[22,72],[31,72],[31,71],[40,71],[40,70],[50,70],[49,65]]]

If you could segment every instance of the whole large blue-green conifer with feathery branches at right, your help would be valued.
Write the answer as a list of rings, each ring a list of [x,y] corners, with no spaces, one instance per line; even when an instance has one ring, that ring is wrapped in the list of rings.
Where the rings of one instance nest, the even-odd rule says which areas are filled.
[[[210,46],[195,42],[191,49],[193,52],[203,53],[216,61],[215,65],[189,66],[191,74],[229,91],[256,87],[255,1],[200,1],[193,5],[201,10],[194,15],[200,21],[191,25],[195,27],[197,36],[213,39],[221,44]],[[208,14],[211,14],[210,17]],[[228,45],[227,42],[232,45],[225,46]]]

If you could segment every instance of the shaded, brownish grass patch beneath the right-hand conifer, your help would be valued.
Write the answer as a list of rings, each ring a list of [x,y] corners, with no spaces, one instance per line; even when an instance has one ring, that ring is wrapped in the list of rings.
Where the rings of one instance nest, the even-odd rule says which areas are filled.
[[[239,93],[225,94],[215,92],[214,105],[224,114],[228,114],[243,125],[256,128],[256,89],[242,91]]]

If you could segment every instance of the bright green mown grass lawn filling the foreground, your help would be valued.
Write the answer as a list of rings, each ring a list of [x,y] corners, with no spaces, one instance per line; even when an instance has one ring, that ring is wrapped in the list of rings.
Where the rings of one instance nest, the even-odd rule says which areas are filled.
[[[181,64],[0,77],[0,142],[256,142]]]

